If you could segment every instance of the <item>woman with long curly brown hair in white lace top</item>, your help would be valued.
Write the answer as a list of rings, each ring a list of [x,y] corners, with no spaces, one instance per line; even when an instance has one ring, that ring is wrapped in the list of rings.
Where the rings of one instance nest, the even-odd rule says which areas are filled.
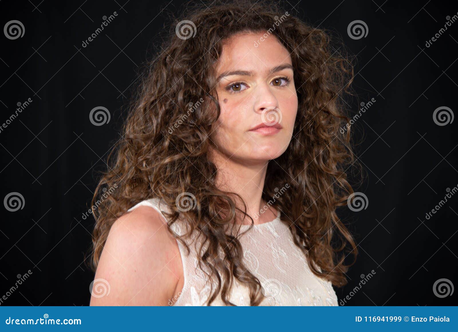
[[[91,305],[338,305],[356,254],[336,214],[352,78],[326,33],[275,5],[189,11],[94,194]]]

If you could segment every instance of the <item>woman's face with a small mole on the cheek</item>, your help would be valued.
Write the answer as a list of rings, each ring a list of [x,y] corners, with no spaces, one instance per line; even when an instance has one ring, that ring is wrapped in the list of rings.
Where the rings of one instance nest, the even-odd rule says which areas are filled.
[[[228,157],[245,162],[282,155],[297,114],[289,52],[275,36],[263,35],[234,36],[216,66],[221,115],[211,138]]]

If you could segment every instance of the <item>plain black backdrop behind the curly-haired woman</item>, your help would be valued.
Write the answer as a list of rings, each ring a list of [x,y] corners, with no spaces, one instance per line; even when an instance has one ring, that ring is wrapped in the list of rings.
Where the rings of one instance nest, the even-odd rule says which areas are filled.
[[[361,142],[356,155],[367,173],[355,191],[367,196],[368,205],[346,214],[360,256],[349,284],[336,288],[339,301],[374,270],[345,305],[456,305],[456,292],[439,298],[433,284],[441,278],[458,284],[458,195],[431,219],[425,215],[458,184],[458,120],[445,126],[433,121],[438,107],[458,111],[458,22],[430,47],[425,42],[457,14],[458,2],[284,4],[340,36],[357,55],[353,112],[359,102],[376,100],[354,124]],[[0,34],[0,125],[17,103],[33,100],[0,132],[0,198],[11,192],[24,197],[21,210],[1,206],[0,297],[17,275],[33,272],[2,305],[89,304],[93,273],[83,254],[93,219],[82,215],[97,172],[120,139],[139,68],[157,55],[159,33],[182,10],[181,1],[1,1],[1,27],[19,20],[25,33],[14,40]],[[82,47],[114,11],[118,16]],[[354,20],[367,24],[365,38],[349,37]],[[110,122],[90,122],[96,106],[109,110]]]

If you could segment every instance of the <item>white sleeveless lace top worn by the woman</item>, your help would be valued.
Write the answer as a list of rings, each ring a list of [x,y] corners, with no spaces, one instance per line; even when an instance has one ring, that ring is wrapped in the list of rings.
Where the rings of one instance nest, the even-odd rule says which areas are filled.
[[[144,200],[129,211],[141,205],[156,209],[163,217],[161,210],[170,212],[164,203],[159,207],[160,198]],[[250,225],[241,225],[240,231],[248,229]],[[183,225],[180,219],[175,222],[172,230],[183,235]],[[336,293],[332,284],[310,271],[304,253],[297,247],[288,226],[280,220],[280,212],[273,221],[253,225],[251,230],[239,237],[245,259],[245,266],[261,282],[266,298],[262,300],[262,306],[296,306],[296,305],[333,305],[338,306]],[[183,244],[177,240],[180,249],[181,261],[183,262],[184,285],[178,299],[169,301],[169,305],[207,305],[210,295],[208,277],[197,265],[197,254],[194,245],[188,246],[190,254],[186,255]],[[318,268],[321,271],[320,268]],[[216,284],[213,284],[213,291]],[[229,301],[239,305],[250,305],[248,288],[234,278]],[[220,295],[212,302],[212,306],[223,306],[224,302]]]

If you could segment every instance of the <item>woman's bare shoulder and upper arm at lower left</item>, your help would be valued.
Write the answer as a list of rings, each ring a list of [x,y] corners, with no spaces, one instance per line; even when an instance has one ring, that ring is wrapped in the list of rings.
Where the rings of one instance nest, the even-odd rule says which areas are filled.
[[[167,305],[182,278],[180,251],[163,217],[139,206],[110,229],[90,305]],[[98,294],[98,282],[106,284],[104,296]]]

